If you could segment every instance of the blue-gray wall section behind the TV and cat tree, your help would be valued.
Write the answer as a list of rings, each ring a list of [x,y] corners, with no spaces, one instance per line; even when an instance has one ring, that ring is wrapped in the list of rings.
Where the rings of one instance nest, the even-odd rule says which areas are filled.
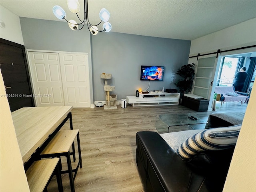
[[[140,81],[141,65],[164,66],[164,80],[151,81],[148,90],[176,88],[178,67],[188,63],[190,41],[122,33],[98,33],[92,36],[92,73],[95,101],[104,100],[101,73],[112,74],[108,84],[116,86],[118,100],[145,90],[149,81]]]

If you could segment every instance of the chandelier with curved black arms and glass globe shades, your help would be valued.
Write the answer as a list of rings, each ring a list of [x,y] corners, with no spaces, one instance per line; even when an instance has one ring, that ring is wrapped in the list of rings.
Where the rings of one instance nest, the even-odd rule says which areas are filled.
[[[96,25],[92,25],[88,18],[88,0],[84,0],[84,19],[83,20],[81,20],[77,14],[80,11],[80,4],[78,0],[67,0],[67,4],[68,4],[69,10],[72,13],[75,13],[76,16],[78,17],[79,23],[77,23],[75,20],[69,20],[69,21],[66,20],[66,12],[64,11],[64,9],[62,9],[62,7],[58,5],[52,8],[52,12],[58,19],[66,20],[66,22],[68,22],[68,26],[70,27],[70,29],[74,31],[81,30],[86,24],[88,27],[88,30],[92,35],[96,35],[98,34],[98,32],[102,32],[102,31],[109,32],[111,30],[112,26],[108,22],[110,18],[110,13],[105,8],[102,8],[102,10],[100,10],[100,14],[99,14],[101,19],[100,23]],[[101,24],[102,21],[104,22],[104,24],[102,25],[102,30],[99,30],[97,26]]]

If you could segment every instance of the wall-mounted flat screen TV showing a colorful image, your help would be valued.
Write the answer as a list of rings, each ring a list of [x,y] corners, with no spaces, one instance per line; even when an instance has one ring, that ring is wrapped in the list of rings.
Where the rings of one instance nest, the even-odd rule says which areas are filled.
[[[141,66],[141,81],[162,81],[164,79],[164,66]]]

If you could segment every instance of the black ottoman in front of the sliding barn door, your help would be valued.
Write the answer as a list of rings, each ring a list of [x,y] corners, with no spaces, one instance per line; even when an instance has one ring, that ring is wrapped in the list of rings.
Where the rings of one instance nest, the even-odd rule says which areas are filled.
[[[187,96],[182,97],[181,104],[185,107],[193,109],[195,111],[207,111],[209,100],[208,99],[193,99]]]

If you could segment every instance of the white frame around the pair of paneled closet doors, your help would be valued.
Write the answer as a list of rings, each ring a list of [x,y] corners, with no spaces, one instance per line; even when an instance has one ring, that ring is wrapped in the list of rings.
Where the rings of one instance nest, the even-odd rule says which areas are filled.
[[[28,60],[28,63],[30,61],[30,56],[28,54],[28,52],[48,52],[48,53],[64,53],[64,54],[88,54],[87,52],[67,52],[67,51],[54,51],[54,50],[34,50],[34,49],[25,49],[26,50],[26,56],[27,56],[27,60]],[[89,55],[88,55],[89,56]],[[88,65],[90,65],[90,62],[88,63]],[[28,71],[29,71],[29,74],[30,76],[32,77],[32,74],[31,74],[31,69],[30,69],[30,65],[28,64]],[[89,76],[92,76],[92,71],[90,70],[90,66],[89,66]],[[90,80],[90,77],[89,77],[89,80]],[[33,85],[33,82],[31,82],[32,84],[32,91],[33,91],[33,94],[35,93],[34,92],[34,85]],[[89,86],[91,84],[89,83]],[[93,98],[93,91],[92,91],[92,88],[91,86],[89,87],[89,90],[90,90],[90,106],[91,108],[94,108],[93,104],[92,103],[92,98]],[[34,103],[36,104],[36,100],[34,98]]]

